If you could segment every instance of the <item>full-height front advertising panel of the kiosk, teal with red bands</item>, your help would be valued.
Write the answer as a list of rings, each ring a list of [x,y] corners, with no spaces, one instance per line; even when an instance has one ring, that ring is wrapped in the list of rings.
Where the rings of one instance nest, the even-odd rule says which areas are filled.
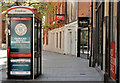
[[[31,18],[12,17],[10,42],[10,75],[31,75]]]

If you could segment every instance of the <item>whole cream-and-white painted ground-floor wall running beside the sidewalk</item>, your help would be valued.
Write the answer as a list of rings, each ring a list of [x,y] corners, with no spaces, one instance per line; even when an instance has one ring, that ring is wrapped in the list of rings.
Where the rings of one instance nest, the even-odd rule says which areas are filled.
[[[77,56],[77,21],[67,24],[64,27],[48,31],[48,45],[43,45],[43,50],[64,53]],[[61,48],[60,48],[61,32]],[[58,33],[58,48],[56,33]],[[46,38],[46,37],[45,37]]]

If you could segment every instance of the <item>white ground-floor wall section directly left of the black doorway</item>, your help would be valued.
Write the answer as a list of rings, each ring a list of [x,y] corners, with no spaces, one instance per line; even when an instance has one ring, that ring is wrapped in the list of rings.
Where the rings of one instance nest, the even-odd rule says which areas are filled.
[[[77,56],[77,21],[65,25],[64,53]]]

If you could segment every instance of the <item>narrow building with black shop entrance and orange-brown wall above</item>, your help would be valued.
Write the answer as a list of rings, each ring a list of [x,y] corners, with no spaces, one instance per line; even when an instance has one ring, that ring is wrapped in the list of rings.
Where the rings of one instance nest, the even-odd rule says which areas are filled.
[[[90,2],[78,2],[77,57],[89,58],[90,8]]]

